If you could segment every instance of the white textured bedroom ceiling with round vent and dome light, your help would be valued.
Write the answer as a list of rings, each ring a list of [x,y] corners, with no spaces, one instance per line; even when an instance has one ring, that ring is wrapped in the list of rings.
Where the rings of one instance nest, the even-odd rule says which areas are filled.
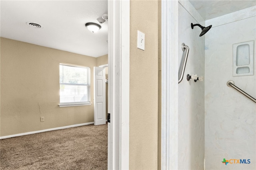
[[[98,23],[107,10],[107,0],[1,0],[1,37],[99,57],[108,54],[108,21],[96,33],[85,23]],[[28,26],[28,21],[43,28]]]

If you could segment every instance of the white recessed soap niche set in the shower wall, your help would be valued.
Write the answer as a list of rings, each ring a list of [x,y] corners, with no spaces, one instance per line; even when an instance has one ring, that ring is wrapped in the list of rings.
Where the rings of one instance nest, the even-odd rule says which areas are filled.
[[[233,76],[254,74],[254,41],[233,44]]]

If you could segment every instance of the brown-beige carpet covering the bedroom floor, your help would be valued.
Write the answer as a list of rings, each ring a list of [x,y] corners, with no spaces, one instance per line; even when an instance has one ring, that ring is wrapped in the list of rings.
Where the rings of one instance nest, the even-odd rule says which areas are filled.
[[[1,170],[106,170],[108,129],[86,125],[0,140]]]

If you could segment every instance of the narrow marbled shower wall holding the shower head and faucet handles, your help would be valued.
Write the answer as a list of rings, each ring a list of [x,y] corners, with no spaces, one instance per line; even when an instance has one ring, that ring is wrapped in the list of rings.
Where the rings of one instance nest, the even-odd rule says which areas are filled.
[[[187,74],[204,76],[204,36],[191,23],[204,25],[204,19],[189,1],[178,6],[179,64],[183,51],[181,44],[190,48],[182,82],[178,84],[178,169],[204,169],[204,81],[187,81]],[[178,78],[178,77],[177,77]]]

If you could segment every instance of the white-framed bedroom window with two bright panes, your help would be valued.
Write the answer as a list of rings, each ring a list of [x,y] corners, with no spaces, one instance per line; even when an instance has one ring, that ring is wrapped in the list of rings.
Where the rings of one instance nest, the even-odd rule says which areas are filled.
[[[90,68],[60,63],[60,107],[90,104]]]

